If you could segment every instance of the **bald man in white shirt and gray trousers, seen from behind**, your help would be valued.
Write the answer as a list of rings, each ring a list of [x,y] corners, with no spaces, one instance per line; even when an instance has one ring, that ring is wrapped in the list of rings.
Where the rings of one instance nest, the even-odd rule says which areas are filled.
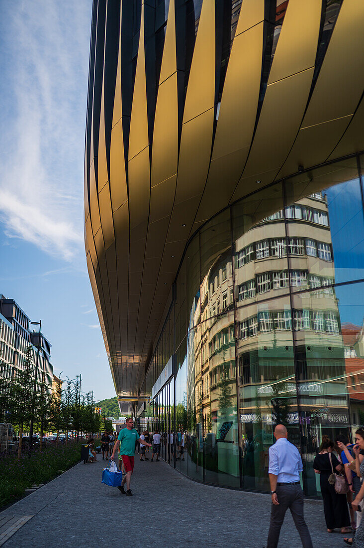
[[[287,439],[287,429],[278,424],[274,429],[276,442],[269,448],[269,482],[271,493],[270,527],[267,548],[278,546],[286,511],[291,511],[294,525],[304,548],[313,548],[310,532],[303,516],[303,490],[299,482],[302,459],[297,447]]]

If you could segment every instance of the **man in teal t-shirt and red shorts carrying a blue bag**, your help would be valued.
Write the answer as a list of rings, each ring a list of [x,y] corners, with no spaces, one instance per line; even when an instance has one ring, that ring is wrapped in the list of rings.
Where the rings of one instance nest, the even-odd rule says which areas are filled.
[[[135,444],[139,440],[142,445],[151,447],[151,443],[147,443],[145,439],[140,439],[138,432],[133,428],[134,421],[130,418],[126,421],[126,428],[120,430],[117,442],[114,445],[111,460],[114,459],[115,453],[120,445],[119,460],[123,459],[125,466],[125,476],[123,477],[121,487],[118,487],[119,491],[125,493],[124,483],[126,482],[126,496],[132,496],[130,490],[131,474],[134,470],[134,453]]]

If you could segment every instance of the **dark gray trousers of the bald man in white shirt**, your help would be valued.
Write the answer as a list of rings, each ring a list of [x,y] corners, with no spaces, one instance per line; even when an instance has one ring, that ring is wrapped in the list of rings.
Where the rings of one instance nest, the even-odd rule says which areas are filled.
[[[278,546],[279,533],[288,508],[291,510],[294,525],[301,536],[303,548],[313,548],[310,532],[303,517],[303,490],[299,485],[277,487],[279,506],[272,503],[267,548]]]

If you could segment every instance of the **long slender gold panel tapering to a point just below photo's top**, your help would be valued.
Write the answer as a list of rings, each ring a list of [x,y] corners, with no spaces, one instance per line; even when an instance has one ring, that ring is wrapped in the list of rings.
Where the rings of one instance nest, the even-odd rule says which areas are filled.
[[[134,158],[141,150],[148,146],[148,115],[147,115],[147,90],[146,90],[146,66],[144,44],[144,4],[142,4],[142,16],[140,23],[140,37],[138,57],[136,61],[134,94],[131,106],[130,134],[129,134],[129,160]]]

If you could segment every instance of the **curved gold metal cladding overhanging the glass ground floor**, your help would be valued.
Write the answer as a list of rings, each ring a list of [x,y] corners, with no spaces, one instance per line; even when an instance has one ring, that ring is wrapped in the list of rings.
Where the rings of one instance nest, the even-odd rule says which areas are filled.
[[[142,2],[140,25],[132,4],[97,4],[107,17],[91,59],[96,43],[104,59],[102,71],[90,67],[85,155],[87,264],[119,396],[138,394],[192,233],[258,181],[364,149],[362,0],[343,0],[319,55],[317,0],[289,0],[274,55],[265,0],[242,0],[231,44],[221,43],[229,21],[215,0],[203,1],[197,36],[182,0],[170,0],[165,35],[159,4]],[[112,20],[114,73],[105,59]]]

